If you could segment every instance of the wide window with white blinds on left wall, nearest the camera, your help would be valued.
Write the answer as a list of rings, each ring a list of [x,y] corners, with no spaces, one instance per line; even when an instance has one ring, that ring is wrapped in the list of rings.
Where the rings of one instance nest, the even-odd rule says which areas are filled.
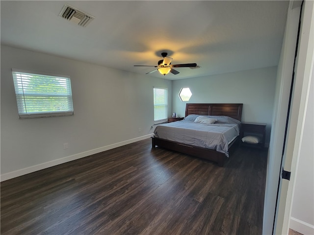
[[[73,115],[70,78],[12,69],[20,118]]]

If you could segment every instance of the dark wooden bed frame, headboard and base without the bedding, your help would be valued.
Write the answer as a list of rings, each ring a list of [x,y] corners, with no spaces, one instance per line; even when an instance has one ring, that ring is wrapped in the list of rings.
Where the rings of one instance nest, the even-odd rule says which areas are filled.
[[[228,116],[241,121],[243,104],[186,104],[185,117],[190,114],[212,115],[212,116]],[[229,156],[237,146],[238,138],[229,144]],[[228,157],[224,153],[217,152],[213,149],[202,148],[189,144],[183,144],[175,141],[168,141],[157,137],[152,137],[152,147],[157,146],[167,148],[194,157],[202,158],[223,166]]]

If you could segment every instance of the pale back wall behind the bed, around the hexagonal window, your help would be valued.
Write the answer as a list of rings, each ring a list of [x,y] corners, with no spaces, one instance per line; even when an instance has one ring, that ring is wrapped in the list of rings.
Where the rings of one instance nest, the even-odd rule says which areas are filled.
[[[266,123],[269,143],[277,67],[217,74],[175,80],[172,84],[172,107],[184,117],[186,103],[243,103],[242,121]],[[189,87],[192,96],[182,102],[182,87]]]

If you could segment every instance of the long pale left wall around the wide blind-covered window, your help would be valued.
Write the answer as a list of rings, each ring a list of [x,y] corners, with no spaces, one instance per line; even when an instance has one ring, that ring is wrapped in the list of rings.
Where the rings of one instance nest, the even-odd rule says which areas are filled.
[[[70,75],[75,115],[19,119],[12,68]],[[1,181],[148,138],[154,86],[168,88],[171,116],[169,80],[1,46]]]

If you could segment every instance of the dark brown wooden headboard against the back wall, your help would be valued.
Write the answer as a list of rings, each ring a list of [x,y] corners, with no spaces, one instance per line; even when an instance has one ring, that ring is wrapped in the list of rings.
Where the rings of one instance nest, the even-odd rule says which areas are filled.
[[[186,104],[185,117],[190,114],[228,116],[241,121],[243,104]]]

